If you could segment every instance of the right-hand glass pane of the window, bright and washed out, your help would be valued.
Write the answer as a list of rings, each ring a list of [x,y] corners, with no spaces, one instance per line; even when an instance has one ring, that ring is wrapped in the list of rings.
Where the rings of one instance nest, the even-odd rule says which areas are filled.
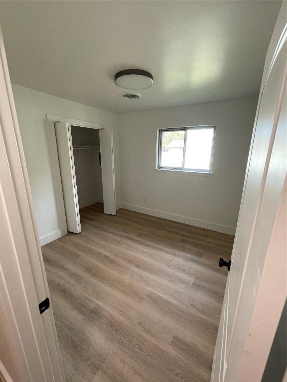
[[[184,168],[209,170],[214,129],[190,129],[186,133]]]

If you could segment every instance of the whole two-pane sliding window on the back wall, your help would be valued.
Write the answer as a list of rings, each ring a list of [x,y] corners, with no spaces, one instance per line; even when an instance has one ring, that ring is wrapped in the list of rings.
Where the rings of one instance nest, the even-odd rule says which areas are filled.
[[[160,129],[157,168],[211,172],[215,126]]]

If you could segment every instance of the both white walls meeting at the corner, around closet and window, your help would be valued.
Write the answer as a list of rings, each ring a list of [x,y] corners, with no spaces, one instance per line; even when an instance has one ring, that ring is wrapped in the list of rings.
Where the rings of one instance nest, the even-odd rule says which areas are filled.
[[[53,175],[56,141],[45,126],[45,113],[114,129],[118,207],[122,202],[125,208],[234,233],[257,98],[115,115],[17,85],[12,88],[42,244],[62,235]],[[214,175],[154,170],[158,128],[204,124],[217,126]]]

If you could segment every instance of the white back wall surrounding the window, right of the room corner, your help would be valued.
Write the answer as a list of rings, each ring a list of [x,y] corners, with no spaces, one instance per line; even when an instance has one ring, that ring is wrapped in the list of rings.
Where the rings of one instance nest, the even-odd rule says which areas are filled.
[[[257,97],[121,114],[124,208],[234,234]],[[155,170],[157,129],[216,125],[214,175]]]

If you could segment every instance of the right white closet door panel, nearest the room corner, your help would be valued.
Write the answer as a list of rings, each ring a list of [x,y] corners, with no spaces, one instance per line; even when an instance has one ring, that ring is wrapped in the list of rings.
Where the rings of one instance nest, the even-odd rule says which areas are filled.
[[[116,214],[113,130],[100,130],[104,212]]]

